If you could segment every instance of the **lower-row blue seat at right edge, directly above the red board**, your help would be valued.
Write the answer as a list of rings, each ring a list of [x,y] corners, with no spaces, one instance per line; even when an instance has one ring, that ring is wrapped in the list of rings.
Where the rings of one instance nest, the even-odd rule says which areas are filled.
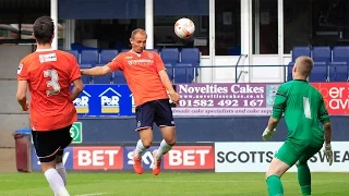
[[[347,62],[330,62],[329,82],[347,82],[348,64]]]

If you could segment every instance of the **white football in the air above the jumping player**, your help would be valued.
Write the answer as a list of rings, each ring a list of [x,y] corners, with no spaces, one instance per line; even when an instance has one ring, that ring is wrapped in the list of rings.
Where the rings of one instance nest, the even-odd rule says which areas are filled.
[[[182,39],[190,38],[195,32],[195,25],[190,19],[180,19],[174,24],[174,33]]]

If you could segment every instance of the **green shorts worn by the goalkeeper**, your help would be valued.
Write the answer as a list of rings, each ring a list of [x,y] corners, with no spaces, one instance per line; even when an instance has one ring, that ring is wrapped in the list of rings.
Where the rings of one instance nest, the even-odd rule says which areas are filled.
[[[288,139],[276,152],[275,157],[289,167],[292,167],[297,161],[299,161],[300,164],[304,164],[310,158],[320,151],[322,145],[310,146]]]

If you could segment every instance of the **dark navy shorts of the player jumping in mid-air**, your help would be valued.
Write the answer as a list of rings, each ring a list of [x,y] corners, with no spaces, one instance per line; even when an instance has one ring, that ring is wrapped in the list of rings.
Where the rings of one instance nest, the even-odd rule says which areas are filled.
[[[137,128],[153,128],[154,122],[157,126],[174,126],[172,109],[169,99],[159,99],[145,102],[135,108]]]

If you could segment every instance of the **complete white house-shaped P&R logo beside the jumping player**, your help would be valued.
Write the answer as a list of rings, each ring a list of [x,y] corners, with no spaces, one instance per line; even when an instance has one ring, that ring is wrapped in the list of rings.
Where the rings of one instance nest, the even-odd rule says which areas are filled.
[[[111,87],[107,88],[99,96],[101,113],[119,113],[120,112],[120,97],[121,95],[112,89]]]

